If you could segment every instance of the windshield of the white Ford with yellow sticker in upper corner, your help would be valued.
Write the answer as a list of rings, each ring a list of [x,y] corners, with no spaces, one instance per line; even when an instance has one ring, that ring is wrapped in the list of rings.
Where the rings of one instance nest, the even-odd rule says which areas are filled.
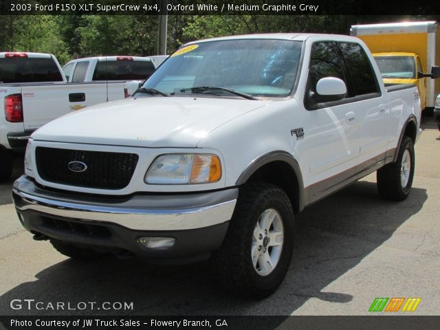
[[[300,41],[247,39],[181,47],[144,84],[171,95],[286,97],[300,62]],[[245,97],[246,97],[245,96]]]

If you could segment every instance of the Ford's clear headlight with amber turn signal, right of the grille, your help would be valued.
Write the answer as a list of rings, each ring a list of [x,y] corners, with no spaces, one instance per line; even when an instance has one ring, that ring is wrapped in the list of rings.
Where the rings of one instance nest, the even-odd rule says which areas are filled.
[[[207,184],[221,178],[220,159],[212,154],[170,154],[157,157],[146,171],[146,184]]]

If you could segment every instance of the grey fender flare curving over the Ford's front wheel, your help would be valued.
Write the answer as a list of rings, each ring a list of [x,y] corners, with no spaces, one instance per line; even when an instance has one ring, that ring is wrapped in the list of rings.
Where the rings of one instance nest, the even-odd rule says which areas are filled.
[[[295,173],[296,180],[298,181],[298,211],[303,210],[305,207],[305,188],[303,182],[303,175],[301,173],[300,166],[296,159],[285,151],[271,151],[265,153],[252,160],[250,164],[243,170],[239,178],[236,180],[236,186],[245,184],[246,181],[256,172],[259,168],[272,162],[284,162],[287,163]]]

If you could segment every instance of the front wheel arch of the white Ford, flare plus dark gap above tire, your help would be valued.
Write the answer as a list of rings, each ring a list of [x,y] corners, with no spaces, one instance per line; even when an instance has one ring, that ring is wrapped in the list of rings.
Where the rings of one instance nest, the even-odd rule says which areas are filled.
[[[305,206],[303,176],[296,159],[285,151],[272,151],[254,159],[239,179],[236,186],[249,181],[265,181],[285,190],[295,213]]]

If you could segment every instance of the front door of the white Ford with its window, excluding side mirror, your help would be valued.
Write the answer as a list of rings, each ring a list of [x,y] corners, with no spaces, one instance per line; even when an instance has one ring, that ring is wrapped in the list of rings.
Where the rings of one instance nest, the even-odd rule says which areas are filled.
[[[336,77],[347,86],[342,100],[318,102],[314,98],[318,80]],[[307,110],[307,154],[309,198],[316,201],[340,188],[351,177],[360,155],[360,129],[365,115],[354,97],[351,76],[333,41],[311,45],[304,105]]]

